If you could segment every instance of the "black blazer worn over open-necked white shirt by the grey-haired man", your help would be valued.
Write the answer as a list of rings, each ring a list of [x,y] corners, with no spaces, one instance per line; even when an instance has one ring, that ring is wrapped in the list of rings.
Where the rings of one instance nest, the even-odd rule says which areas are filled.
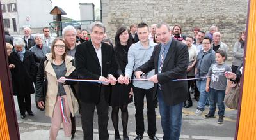
[[[113,48],[106,43],[102,43],[101,52],[102,76],[107,78],[108,74],[115,75],[117,66]],[[91,40],[77,46],[75,57],[76,72],[79,79],[99,80],[101,67]],[[109,102],[110,85],[79,82],[78,99],[82,102],[97,104],[100,99],[100,90],[102,89],[105,90],[105,99]]]

